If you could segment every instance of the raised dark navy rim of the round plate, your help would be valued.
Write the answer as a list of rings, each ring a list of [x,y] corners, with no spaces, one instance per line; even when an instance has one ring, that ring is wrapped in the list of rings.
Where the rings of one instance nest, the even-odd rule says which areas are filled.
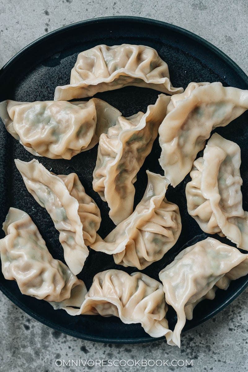
[[[201,36],[197,35],[196,33],[193,33],[187,29],[184,29],[180,26],[173,25],[171,23],[167,23],[164,21],[160,20],[155,20],[155,19],[149,19],[146,17],[138,17],[138,16],[106,16],[106,17],[97,17],[97,18],[91,18],[91,19],[86,19],[78,22],[71,23],[70,25],[67,26],[62,26],[60,28],[55,29],[54,31],[48,32],[45,35],[40,36],[38,39],[35,39],[34,41],[30,42],[28,45],[26,45],[24,48],[20,49],[12,58],[10,58],[9,61],[7,61],[3,67],[0,69],[0,76],[2,74],[5,74],[6,71],[11,68],[11,65],[13,62],[18,60],[18,58],[22,57],[23,53],[25,53],[26,50],[32,48],[33,46],[39,44],[40,42],[43,42],[44,40],[48,40],[51,36],[57,35],[61,32],[67,32],[73,28],[77,28],[78,26],[81,25],[87,25],[87,24],[92,24],[92,23],[97,23],[97,22],[111,22],[111,21],[135,21],[143,24],[149,24],[149,25],[158,25],[163,28],[170,29],[171,31],[176,31],[179,32],[191,39],[193,41],[200,42],[203,44],[206,48],[210,49],[214,54],[218,55],[218,57],[222,58],[225,60],[225,62],[233,69],[235,72],[241,77],[242,80],[244,80],[247,85],[248,85],[248,75],[242,70],[241,67],[239,67],[236,62],[234,62],[227,54],[225,54],[222,50],[220,50],[218,47],[207,41],[206,39],[202,38]],[[225,309],[235,298],[237,298],[246,288],[248,287],[248,276],[246,281],[236,290],[234,294],[232,294],[228,299],[226,299],[225,302],[223,302],[221,305],[219,305],[215,310],[207,314],[205,317],[203,317],[201,320],[197,321],[193,326],[191,327],[184,327],[183,332],[193,329],[197,327],[198,325],[204,323],[205,321],[209,320],[213,316],[217,315],[220,311]],[[22,311],[26,312],[26,314],[30,315],[32,318],[35,320],[39,321],[42,324],[45,324],[46,326],[62,332],[64,334],[67,334],[72,337],[76,337],[78,339],[83,339],[83,340],[88,340],[92,342],[99,342],[99,343],[112,343],[112,344],[134,344],[134,343],[147,343],[147,342],[154,342],[154,341],[159,341],[159,340],[165,340],[165,337],[158,337],[154,338],[149,335],[144,336],[144,337],[138,337],[136,339],[112,339],[112,338],[107,338],[107,337],[98,337],[98,336],[88,336],[86,334],[81,334],[78,333],[76,330],[69,330],[68,328],[64,328],[58,324],[51,323],[49,320],[46,320],[42,317],[40,317],[38,314],[34,313],[32,310],[30,310],[26,305],[22,304],[17,298],[15,298],[12,293],[3,286],[3,284],[0,282],[0,291],[10,299],[10,301],[13,302],[17,307],[19,307]]]

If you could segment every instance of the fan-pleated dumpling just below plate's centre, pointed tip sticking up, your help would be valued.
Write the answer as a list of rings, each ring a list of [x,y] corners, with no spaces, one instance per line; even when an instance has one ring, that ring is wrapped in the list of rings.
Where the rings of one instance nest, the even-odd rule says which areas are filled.
[[[116,264],[145,269],[160,260],[174,246],[181,233],[178,206],[165,198],[168,180],[146,171],[145,194],[130,217],[121,222],[107,237],[97,236],[91,248],[113,254]]]

